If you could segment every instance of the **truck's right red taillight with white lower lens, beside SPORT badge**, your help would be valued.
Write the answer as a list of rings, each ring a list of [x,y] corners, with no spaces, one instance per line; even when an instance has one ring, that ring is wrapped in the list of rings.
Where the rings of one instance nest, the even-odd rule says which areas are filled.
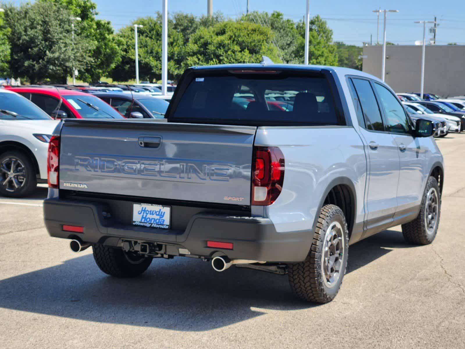
[[[271,205],[283,188],[284,155],[278,147],[254,147],[252,163],[252,205]]]

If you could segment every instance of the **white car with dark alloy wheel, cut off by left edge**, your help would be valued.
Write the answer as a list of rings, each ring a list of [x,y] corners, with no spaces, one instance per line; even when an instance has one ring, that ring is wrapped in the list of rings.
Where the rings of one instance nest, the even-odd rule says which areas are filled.
[[[21,197],[47,180],[55,121],[25,97],[0,88],[0,196]]]

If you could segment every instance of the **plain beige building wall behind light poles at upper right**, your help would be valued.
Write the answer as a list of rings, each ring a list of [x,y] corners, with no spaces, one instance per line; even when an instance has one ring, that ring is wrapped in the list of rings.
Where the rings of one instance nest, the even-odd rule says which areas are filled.
[[[421,46],[386,46],[386,83],[396,92],[420,92]],[[363,71],[381,78],[382,46],[365,46]],[[427,45],[425,93],[465,95],[465,46]]]

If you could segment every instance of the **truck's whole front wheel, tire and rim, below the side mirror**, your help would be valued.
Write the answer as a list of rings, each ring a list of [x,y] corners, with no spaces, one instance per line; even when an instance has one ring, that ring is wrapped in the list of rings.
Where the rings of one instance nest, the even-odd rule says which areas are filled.
[[[407,242],[428,245],[438,232],[441,215],[441,192],[438,181],[430,177],[426,183],[418,216],[411,222],[402,224],[402,234]]]

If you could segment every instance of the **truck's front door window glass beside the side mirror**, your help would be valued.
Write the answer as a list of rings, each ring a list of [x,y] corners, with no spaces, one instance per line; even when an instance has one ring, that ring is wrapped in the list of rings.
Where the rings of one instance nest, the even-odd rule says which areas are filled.
[[[385,115],[388,131],[409,134],[412,128],[402,104],[386,87],[378,83],[375,83],[374,86]]]

